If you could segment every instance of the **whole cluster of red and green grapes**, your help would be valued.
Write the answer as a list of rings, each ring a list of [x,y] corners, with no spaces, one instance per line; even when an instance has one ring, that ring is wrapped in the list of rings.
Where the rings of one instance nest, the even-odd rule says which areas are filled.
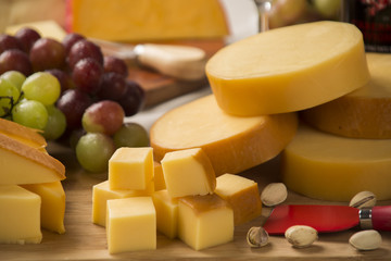
[[[143,101],[126,63],[83,35],[61,42],[28,27],[0,35],[0,116],[70,145],[87,171],[105,171],[118,147],[149,145],[142,126],[124,122]]]

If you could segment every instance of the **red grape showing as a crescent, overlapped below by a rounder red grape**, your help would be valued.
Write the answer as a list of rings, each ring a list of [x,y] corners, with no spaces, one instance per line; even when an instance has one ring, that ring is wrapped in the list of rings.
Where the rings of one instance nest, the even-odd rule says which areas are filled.
[[[67,62],[71,70],[73,70],[78,61],[85,58],[94,59],[103,66],[103,53],[100,47],[89,40],[79,40],[72,46],[68,53]]]

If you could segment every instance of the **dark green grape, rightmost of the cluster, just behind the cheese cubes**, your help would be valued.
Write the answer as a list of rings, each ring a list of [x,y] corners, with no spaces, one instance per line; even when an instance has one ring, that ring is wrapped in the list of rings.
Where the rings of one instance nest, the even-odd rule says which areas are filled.
[[[149,146],[148,132],[137,123],[125,123],[114,136],[114,145],[121,147],[147,147]]]

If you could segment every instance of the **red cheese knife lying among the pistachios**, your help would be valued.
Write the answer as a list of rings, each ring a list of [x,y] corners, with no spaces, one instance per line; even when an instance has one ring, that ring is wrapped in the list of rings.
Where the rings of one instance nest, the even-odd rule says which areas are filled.
[[[356,209],[349,206],[281,204],[274,208],[263,227],[270,235],[293,225],[307,225],[318,233],[362,229],[391,231],[391,206]]]

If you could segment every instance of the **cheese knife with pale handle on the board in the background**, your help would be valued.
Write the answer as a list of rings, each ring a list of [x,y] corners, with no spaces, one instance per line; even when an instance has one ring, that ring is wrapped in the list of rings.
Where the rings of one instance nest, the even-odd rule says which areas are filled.
[[[139,44],[125,45],[89,38],[108,55],[138,63],[182,80],[199,80],[205,77],[206,53],[204,50],[179,45]]]

